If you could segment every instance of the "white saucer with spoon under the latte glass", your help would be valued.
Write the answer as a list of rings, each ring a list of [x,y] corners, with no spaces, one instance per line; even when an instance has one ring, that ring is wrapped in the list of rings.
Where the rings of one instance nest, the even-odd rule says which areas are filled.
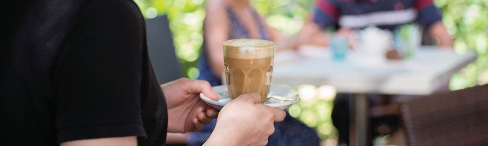
[[[218,101],[208,98],[203,93],[200,93],[200,99],[202,99],[212,108],[221,110],[225,104],[230,102],[229,93],[227,92],[227,85],[214,86],[212,89],[219,95],[220,99]],[[271,85],[268,99],[263,104],[273,108],[285,110],[299,99],[300,95],[297,91],[283,86]]]

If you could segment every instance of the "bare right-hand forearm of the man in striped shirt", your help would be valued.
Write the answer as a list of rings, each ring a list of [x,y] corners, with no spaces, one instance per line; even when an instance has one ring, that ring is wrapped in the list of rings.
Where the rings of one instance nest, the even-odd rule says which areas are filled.
[[[431,37],[439,38],[440,47],[452,47],[453,39],[447,33],[446,26],[442,23],[442,20],[435,22],[428,29],[428,34]]]

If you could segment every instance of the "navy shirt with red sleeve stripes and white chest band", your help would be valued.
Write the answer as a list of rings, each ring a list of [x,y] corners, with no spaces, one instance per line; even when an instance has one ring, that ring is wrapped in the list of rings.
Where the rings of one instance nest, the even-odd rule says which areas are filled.
[[[394,30],[410,22],[428,28],[441,19],[432,0],[317,0],[315,10],[315,22],[323,28],[374,25]]]

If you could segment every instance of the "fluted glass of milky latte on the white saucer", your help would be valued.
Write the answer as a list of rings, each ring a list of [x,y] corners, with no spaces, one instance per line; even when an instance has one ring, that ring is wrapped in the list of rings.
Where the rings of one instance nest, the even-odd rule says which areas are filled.
[[[266,101],[271,85],[275,43],[263,39],[224,42],[225,77],[230,99],[250,92]]]

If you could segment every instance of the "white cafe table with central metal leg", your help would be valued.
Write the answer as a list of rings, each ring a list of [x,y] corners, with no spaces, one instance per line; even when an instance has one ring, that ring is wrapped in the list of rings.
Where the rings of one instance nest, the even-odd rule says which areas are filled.
[[[422,46],[409,59],[366,63],[359,53],[349,51],[343,61],[334,61],[324,47],[301,46],[298,51],[275,55],[273,84],[331,85],[341,93],[355,95],[351,106],[350,145],[367,145],[368,93],[429,95],[444,87],[452,74],[476,59],[474,51]]]

